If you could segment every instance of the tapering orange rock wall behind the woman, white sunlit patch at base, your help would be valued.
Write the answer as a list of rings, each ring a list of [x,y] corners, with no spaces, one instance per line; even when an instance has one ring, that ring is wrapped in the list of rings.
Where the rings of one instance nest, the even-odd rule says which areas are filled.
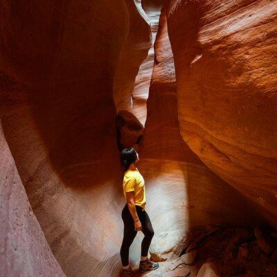
[[[263,224],[256,208],[215,175],[190,150],[179,132],[177,91],[166,14],[162,10],[154,44],[148,116],[140,145],[148,213],[156,235],[195,226]]]

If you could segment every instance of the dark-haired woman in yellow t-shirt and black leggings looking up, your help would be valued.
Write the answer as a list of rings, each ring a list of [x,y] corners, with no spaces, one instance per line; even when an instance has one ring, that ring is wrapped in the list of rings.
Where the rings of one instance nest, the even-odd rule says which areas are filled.
[[[134,148],[125,148],[120,154],[123,171],[123,193],[127,203],[125,204],[121,217],[124,222],[124,236],[120,248],[120,258],[123,265],[123,276],[134,276],[129,266],[129,247],[131,246],[137,231],[144,234],[141,242],[141,261],[139,271],[153,270],[159,267],[157,262],[148,260],[148,250],[154,235],[152,224],[148,213],[145,211],[146,195],[144,179],[136,168],[139,154]]]

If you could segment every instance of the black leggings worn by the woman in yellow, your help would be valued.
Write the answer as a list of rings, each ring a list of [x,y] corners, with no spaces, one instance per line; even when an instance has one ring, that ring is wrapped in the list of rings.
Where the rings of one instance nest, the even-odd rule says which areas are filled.
[[[146,213],[145,210],[143,211],[141,206],[135,206],[136,213],[138,214],[139,220],[141,222],[141,231],[144,234],[143,241],[141,242],[141,256],[146,257],[148,256],[148,250],[154,235],[154,231],[148,213]],[[120,258],[123,267],[126,267],[129,264],[129,247],[131,246],[137,233],[137,231],[134,229],[134,219],[129,211],[127,203],[122,210],[121,217],[124,222],[124,237],[120,248]]]

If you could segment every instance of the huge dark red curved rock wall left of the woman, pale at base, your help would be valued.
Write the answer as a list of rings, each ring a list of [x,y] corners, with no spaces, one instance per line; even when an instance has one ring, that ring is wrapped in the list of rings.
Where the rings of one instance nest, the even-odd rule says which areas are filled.
[[[0,5],[1,120],[30,204],[66,276],[112,276],[123,230],[113,78],[125,1]]]

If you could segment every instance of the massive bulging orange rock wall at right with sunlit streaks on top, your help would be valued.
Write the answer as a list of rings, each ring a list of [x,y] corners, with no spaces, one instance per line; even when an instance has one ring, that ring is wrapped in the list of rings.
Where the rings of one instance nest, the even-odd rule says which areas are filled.
[[[277,218],[277,1],[168,1],[181,135]]]

